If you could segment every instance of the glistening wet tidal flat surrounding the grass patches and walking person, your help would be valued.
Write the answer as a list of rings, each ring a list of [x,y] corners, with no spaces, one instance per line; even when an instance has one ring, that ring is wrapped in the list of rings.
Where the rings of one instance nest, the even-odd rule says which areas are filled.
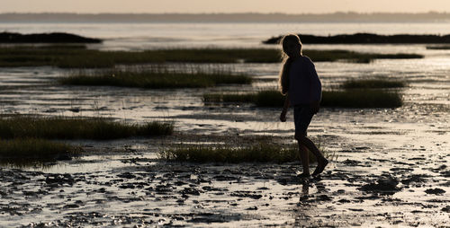
[[[170,162],[160,156],[183,145],[293,145],[292,110],[280,123],[278,108],[202,101],[207,92],[274,89],[278,63],[209,64],[251,75],[252,83],[202,89],[67,86],[57,83],[66,69],[2,67],[4,115],[169,121],[174,134],[67,140],[84,148],[81,156],[38,166],[3,164],[0,225],[445,226],[450,66],[447,54],[422,48],[425,57],[418,59],[316,63],[324,89],[373,76],[407,85],[398,108],[322,107],[309,135],[332,162],[311,180],[297,178],[299,161]]]

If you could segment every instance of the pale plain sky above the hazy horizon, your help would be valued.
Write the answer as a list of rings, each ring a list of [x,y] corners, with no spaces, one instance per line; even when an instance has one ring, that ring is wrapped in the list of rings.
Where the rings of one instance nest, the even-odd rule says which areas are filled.
[[[450,0],[0,0],[0,13],[426,13]]]

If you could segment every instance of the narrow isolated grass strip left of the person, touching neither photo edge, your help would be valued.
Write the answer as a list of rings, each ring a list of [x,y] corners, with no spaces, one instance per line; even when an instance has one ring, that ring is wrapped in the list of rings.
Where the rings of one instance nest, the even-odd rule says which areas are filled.
[[[210,87],[224,83],[251,83],[249,75],[232,75],[226,72],[211,73],[173,73],[157,71],[110,71],[101,74],[80,72],[59,80],[59,83],[70,85],[110,85],[139,88],[193,88]]]

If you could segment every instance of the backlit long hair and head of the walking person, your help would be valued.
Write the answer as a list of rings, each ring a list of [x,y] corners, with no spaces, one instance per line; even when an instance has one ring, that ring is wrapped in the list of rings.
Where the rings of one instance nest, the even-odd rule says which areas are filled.
[[[278,75],[278,84],[280,92],[283,95],[286,95],[289,90],[289,69],[293,63],[293,58],[297,55],[302,55],[302,42],[300,41],[299,36],[289,34],[283,37],[281,44],[283,46],[283,65],[280,74]],[[292,47],[295,47],[295,49]],[[297,51],[299,51],[299,53],[296,53]]]

